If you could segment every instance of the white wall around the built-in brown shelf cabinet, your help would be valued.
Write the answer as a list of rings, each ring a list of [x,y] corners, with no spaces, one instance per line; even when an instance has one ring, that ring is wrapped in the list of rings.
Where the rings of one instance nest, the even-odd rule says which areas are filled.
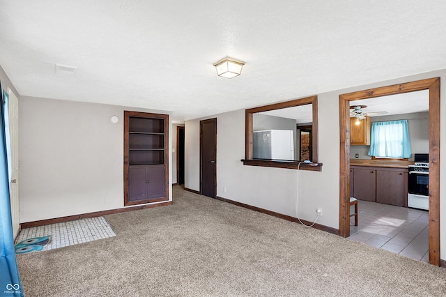
[[[124,206],[124,110],[169,114],[153,109],[22,96],[20,222]],[[118,123],[110,121],[113,115],[118,116]],[[169,172],[171,188],[170,161]],[[169,196],[171,199],[171,189]],[[109,204],[105,204],[106,198]]]

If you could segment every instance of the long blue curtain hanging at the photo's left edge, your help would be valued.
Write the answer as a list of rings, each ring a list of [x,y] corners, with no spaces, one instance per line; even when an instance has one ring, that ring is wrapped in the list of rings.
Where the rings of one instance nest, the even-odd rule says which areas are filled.
[[[0,93],[1,85],[0,85]],[[5,125],[5,109],[3,102],[8,102],[7,94],[5,99],[0,96],[0,296],[23,296],[22,282],[20,282],[19,270],[15,259],[13,222],[11,219],[11,206],[9,198],[9,169],[8,153],[10,144],[7,143]]]

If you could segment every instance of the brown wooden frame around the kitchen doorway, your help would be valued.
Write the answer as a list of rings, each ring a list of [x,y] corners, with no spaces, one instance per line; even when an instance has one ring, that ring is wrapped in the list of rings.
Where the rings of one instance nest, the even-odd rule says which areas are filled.
[[[429,90],[429,263],[440,266],[440,78],[339,96],[339,235],[350,235],[350,101]]]

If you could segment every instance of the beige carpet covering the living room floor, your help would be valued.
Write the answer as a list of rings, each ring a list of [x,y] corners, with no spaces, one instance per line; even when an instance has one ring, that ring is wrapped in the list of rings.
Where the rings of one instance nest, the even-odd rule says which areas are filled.
[[[446,292],[445,268],[178,186],[172,206],[106,219],[117,236],[17,256],[25,296],[445,296]]]

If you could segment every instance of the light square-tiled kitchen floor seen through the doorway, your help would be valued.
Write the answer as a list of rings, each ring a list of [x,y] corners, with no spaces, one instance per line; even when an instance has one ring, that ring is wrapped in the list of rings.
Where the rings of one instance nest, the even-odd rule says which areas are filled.
[[[358,211],[358,226],[352,217],[349,239],[429,262],[428,211],[362,200]]]

